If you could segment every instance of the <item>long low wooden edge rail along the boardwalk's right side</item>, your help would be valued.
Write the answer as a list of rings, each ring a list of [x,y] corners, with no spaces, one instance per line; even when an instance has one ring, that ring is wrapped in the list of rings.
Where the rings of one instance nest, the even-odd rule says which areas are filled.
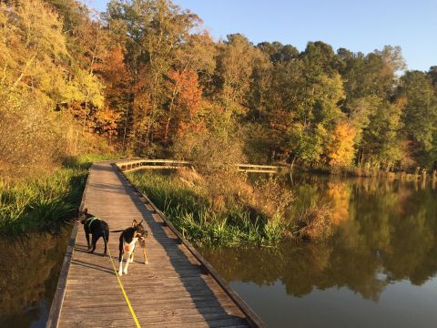
[[[239,296],[237,292],[234,292],[232,288],[229,287],[228,282],[226,282],[217,272],[211,264],[205,258],[191,245],[189,241],[187,241],[184,236],[175,228],[175,226],[171,223],[170,220],[167,219],[167,217],[164,215],[164,213],[158,209],[158,207],[145,195],[141,190],[138,190],[137,187],[127,178],[127,176],[124,173],[124,170],[121,169],[118,166],[118,163],[115,163],[117,169],[119,170],[120,174],[127,180],[127,183],[137,191],[138,194],[140,194],[149,204],[153,210],[158,214],[159,218],[164,222],[165,225],[168,226],[170,231],[172,231],[177,237],[178,240],[187,247],[188,251],[193,254],[193,256],[203,265],[203,267],[208,271],[208,273],[214,278],[216,282],[219,283],[219,286],[229,295],[230,299],[235,302],[235,304],[239,307],[239,310],[241,310],[242,313],[246,315],[246,319],[248,320],[248,323],[251,327],[254,328],[265,328],[267,325],[259,318],[259,315],[255,313],[249,305],[243,301],[243,299]]]

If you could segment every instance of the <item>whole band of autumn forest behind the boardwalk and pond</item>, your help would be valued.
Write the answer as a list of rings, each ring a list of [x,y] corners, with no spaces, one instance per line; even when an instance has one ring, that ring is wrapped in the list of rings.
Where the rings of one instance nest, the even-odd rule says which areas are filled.
[[[216,40],[170,0],[0,3],[0,172],[84,151],[291,167],[437,168],[437,66]]]

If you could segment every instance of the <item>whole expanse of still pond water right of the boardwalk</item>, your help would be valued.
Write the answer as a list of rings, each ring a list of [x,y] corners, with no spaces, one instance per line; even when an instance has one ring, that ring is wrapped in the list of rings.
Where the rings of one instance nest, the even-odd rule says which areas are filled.
[[[203,249],[269,327],[437,327],[432,182],[294,178],[293,208],[329,203],[325,241]]]

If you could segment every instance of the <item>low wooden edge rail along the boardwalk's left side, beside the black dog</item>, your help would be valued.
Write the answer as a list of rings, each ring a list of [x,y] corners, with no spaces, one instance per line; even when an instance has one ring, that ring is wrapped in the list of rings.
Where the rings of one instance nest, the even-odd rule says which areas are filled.
[[[86,190],[88,189],[90,175],[91,173],[89,172],[86,178],[86,185],[84,193],[82,194],[82,200],[80,201],[79,210],[83,210],[85,206]],[[66,255],[64,256],[64,261],[62,262],[59,280],[57,281],[56,285],[55,296],[53,297],[52,306],[50,307],[50,313],[48,314],[46,328],[57,328],[59,318],[61,317],[62,304],[66,297],[66,280],[68,278],[68,272],[70,270],[70,264],[73,258],[73,251],[75,250],[78,228],[78,223],[75,220],[75,225],[73,226],[73,231],[71,231],[68,245],[66,247]]]

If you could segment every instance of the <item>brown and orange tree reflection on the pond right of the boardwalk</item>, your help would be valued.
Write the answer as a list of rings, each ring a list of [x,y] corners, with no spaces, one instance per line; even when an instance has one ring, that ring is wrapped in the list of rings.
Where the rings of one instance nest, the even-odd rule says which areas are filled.
[[[373,302],[370,315],[382,318],[378,303],[386,290],[392,291],[387,295],[396,294],[398,298],[410,300],[414,286],[422,286],[425,282],[435,284],[436,279],[432,280],[432,277],[437,272],[437,192],[432,187],[431,183],[423,186],[420,181],[295,178],[291,187],[297,199],[295,210],[311,201],[330,202],[335,213],[332,218],[335,232],[328,240],[318,243],[290,241],[278,249],[202,251],[231,284],[246,283],[236,287],[243,297],[244,294],[253,299],[265,297],[274,286],[276,295],[283,290],[289,298],[306,299],[308,309],[305,307],[301,311],[310,316],[311,304],[330,306],[344,296],[342,293],[349,291]],[[246,290],[249,284],[256,284],[258,289]],[[405,284],[412,287],[406,288]],[[267,286],[272,290],[266,293]],[[405,292],[407,290],[409,292]],[[320,291],[329,292],[330,298],[326,302],[320,301],[326,296],[321,296]],[[421,302],[427,300],[425,295],[429,295],[429,291],[423,291],[417,290],[418,296],[406,307],[407,310],[402,308],[402,311],[421,307]],[[434,291],[434,301],[435,296],[437,292]],[[274,300],[275,296],[270,297]],[[248,302],[257,303],[249,299]],[[391,302],[393,311],[396,311],[398,301],[393,298]],[[284,302],[280,304],[275,306],[284,306],[285,310]],[[344,311],[349,308],[351,304],[344,304]],[[434,306],[428,313],[434,318],[433,323],[437,320],[435,310]],[[272,309],[263,306],[257,311],[269,318]],[[268,323],[284,326],[290,313],[284,311],[281,315],[282,321],[275,318]],[[302,319],[303,325],[318,326],[306,320]],[[341,326],[337,319],[331,320],[331,326]],[[387,323],[394,326],[394,321]],[[432,326],[433,323],[423,322],[422,326]]]

